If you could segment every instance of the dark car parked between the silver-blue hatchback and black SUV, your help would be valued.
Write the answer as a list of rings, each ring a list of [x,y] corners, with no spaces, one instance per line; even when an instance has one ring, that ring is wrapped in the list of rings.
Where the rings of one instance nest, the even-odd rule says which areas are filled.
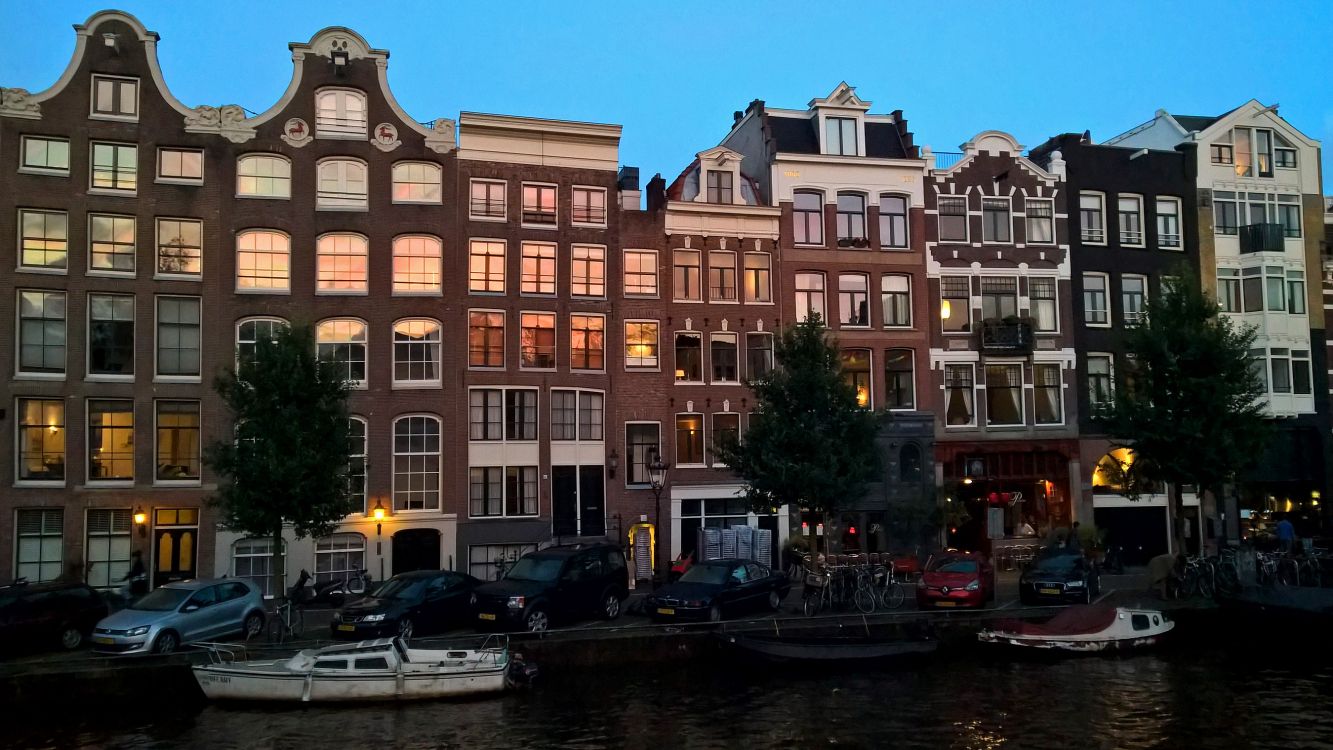
[[[451,570],[400,573],[369,597],[333,613],[335,638],[411,638],[472,622],[472,591],[481,581]]]

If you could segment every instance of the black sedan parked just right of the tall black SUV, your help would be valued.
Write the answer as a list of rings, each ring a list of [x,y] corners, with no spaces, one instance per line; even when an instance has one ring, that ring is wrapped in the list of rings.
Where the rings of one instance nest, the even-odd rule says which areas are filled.
[[[749,560],[696,562],[678,581],[648,597],[653,619],[706,619],[768,609],[777,611],[792,590],[781,573]]]

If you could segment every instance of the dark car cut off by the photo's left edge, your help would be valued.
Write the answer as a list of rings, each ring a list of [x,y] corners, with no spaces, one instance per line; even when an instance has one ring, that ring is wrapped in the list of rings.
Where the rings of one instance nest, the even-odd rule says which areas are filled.
[[[13,583],[0,586],[0,645],[59,643],[73,650],[107,617],[107,601],[85,583]]]

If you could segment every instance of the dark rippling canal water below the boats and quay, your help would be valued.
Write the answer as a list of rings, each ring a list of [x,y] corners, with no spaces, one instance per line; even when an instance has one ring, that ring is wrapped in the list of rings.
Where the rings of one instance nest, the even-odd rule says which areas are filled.
[[[1333,749],[1333,658],[1272,637],[1130,658],[812,674],[706,666],[555,674],[463,703],[8,717],[12,747]]]

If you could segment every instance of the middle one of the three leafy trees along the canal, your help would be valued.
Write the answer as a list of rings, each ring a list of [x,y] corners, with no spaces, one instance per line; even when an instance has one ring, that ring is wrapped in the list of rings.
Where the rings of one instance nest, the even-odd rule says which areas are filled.
[[[862,409],[842,378],[837,341],[818,317],[782,332],[777,366],[750,381],[756,408],[745,438],[724,434],[718,458],[745,482],[754,512],[786,505],[793,529],[801,509],[833,514],[860,498],[880,472],[880,414]]]

